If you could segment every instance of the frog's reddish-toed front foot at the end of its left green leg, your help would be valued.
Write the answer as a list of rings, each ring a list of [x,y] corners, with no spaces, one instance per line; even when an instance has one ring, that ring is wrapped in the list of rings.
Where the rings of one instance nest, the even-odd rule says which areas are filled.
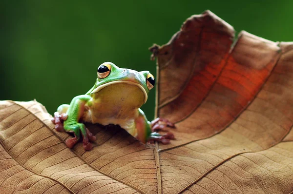
[[[68,148],[72,148],[80,140],[80,134],[82,134],[84,150],[89,151],[92,149],[93,146],[90,141],[95,141],[96,136],[93,136],[83,123],[66,125],[64,126],[64,130],[66,132],[74,133],[74,137],[69,138],[65,141],[65,144]]]

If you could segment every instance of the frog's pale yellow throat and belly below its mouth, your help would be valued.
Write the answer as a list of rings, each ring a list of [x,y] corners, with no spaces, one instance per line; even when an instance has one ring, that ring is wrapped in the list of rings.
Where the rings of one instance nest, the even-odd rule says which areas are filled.
[[[132,136],[137,136],[135,119],[139,107],[144,104],[145,95],[136,85],[116,83],[108,85],[84,105],[83,120],[102,125],[120,125]]]

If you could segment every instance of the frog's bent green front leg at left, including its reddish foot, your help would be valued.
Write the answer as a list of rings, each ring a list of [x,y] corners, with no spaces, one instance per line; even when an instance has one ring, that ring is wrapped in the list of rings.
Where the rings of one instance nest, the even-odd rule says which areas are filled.
[[[65,108],[68,108],[65,115],[67,116],[67,119],[65,119],[63,123],[64,130],[69,133],[74,133],[74,137],[67,139],[65,142],[69,148],[72,148],[79,141],[81,137],[80,135],[83,136],[85,150],[92,149],[92,145],[89,143],[89,140],[96,140],[96,137],[89,132],[85,125],[83,123],[79,123],[80,118],[84,114],[84,105],[90,98],[91,97],[88,95],[77,96],[72,99],[69,106],[64,106]],[[60,112],[62,115],[63,111],[59,110],[58,108],[58,112]]]

